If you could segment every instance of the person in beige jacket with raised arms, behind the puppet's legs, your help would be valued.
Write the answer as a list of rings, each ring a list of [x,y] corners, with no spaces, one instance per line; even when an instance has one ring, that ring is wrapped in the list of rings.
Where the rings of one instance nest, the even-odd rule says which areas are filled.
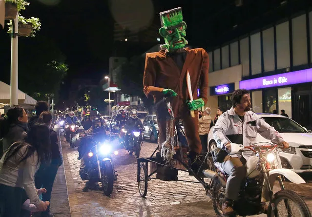
[[[210,117],[211,109],[206,108],[205,111],[202,113],[202,117],[199,118],[198,113],[198,122],[199,122],[199,138],[202,143],[202,152],[208,152],[208,133],[211,127],[212,119]]]

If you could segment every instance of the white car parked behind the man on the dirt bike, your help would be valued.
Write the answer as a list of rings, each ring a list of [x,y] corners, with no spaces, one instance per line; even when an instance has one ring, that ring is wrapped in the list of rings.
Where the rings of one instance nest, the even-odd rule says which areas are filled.
[[[291,118],[281,115],[258,114],[267,123],[277,130],[290,145],[289,149],[279,149],[281,164],[283,168],[291,169],[295,173],[312,172],[312,133],[305,127],[300,126]],[[213,127],[208,134],[208,150],[216,148],[213,138]],[[257,134],[257,142],[270,140]]]

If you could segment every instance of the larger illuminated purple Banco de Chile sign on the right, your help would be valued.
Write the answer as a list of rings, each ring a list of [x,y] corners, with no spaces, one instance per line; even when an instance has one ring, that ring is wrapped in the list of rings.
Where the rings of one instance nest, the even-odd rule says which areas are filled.
[[[298,83],[312,82],[312,69],[288,72],[262,78],[239,81],[239,88],[254,90]]]

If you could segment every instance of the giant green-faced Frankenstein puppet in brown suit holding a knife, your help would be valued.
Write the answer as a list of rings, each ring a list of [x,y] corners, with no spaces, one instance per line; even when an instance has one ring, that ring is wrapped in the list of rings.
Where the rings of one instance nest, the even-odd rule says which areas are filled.
[[[152,95],[155,103],[161,102],[164,96],[171,96],[171,106],[176,120],[182,119],[189,146],[192,165],[199,159],[202,145],[198,134],[197,110],[207,102],[208,66],[207,52],[202,48],[188,49],[186,29],[183,21],[181,7],[160,13],[162,27],[160,35],[166,44],[161,45],[162,50],[146,54],[144,72],[144,93]],[[191,95],[190,101],[187,89],[187,74],[190,76]],[[197,96],[197,88],[200,95]],[[194,111],[192,117],[190,111]],[[159,145],[166,141],[166,108],[158,108],[156,116],[159,127]],[[195,164],[194,164],[195,165]],[[196,166],[195,166],[196,167]],[[192,166],[193,168],[193,166]],[[196,170],[196,168],[193,168]],[[197,168],[198,170],[198,168]]]

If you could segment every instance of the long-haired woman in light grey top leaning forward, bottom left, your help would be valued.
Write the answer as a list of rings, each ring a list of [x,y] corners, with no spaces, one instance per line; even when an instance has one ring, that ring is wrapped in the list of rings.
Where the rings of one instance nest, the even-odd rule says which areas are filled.
[[[50,161],[49,128],[35,124],[24,140],[13,143],[0,159],[0,216],[20,217],[23,202],[30,199],[39,211],[47,204],[38,196],[34,176],[42,162]]]

